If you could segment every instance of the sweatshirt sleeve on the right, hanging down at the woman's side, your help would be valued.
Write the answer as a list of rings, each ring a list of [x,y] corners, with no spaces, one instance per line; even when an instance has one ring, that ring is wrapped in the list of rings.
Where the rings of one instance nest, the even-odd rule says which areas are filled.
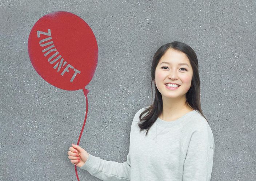
[[[208,123],[196,125],[189,131],[187,137],[188,150],[184,161],[184,181],[211,180],[214,140]],[[184,140],[185,141],[185,140]]]

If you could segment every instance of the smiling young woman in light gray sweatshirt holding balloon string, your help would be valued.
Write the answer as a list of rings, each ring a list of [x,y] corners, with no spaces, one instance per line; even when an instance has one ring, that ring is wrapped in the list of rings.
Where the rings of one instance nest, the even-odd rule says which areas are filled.
[[[100,159],[75,144],[68,158],[101,180],[209,181],[215,144],[201,110],[195,51],[177,41],[161,46],[151,77],[155,99],[133,118],[126,162]]]

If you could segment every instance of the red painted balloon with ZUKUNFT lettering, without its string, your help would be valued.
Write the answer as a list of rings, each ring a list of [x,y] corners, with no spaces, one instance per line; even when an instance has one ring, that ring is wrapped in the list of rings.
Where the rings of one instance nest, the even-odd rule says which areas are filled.
[[[98,46],[89,25],[69,12],[41,17],[28,38],[28,55],[37,73],[64,90],[84,88],[98,62]]]

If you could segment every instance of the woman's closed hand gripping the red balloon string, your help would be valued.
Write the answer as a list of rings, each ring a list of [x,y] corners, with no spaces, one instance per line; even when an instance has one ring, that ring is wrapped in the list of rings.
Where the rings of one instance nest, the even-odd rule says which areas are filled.
[[[76,144],[72,144],[72,147],[69,147],[68,155],[71,163],[80,168],[84,165],[89,157],[88,152]]]

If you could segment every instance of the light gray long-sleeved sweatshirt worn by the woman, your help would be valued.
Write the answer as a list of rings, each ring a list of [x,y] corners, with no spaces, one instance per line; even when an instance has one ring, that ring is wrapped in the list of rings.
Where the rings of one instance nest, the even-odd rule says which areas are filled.
[[[133,118],[126,162],[89,153],[81,169],[106,181],[209,181],[215,145],[205,118],[196,110],[174,121],[157,118],[145,136],[137,125],[144,110]]]

